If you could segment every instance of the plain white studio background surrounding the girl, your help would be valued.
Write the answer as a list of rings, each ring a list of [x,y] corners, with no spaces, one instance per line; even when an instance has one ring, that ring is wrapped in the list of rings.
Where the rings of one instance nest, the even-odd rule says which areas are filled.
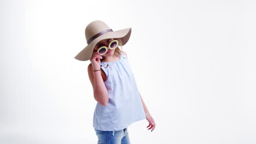
[[[97,143],[85,27],[123,46],[156,127],[131,143],[256,143],[255,1],[1,1],[0,143]]]

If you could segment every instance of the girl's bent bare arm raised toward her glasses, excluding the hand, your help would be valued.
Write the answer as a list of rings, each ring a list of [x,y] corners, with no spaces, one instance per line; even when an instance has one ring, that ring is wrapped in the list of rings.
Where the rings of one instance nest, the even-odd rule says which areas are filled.
[[[101,76],[101,70],[94,70],[92,64],[88,65],[88,74],[89,79],[91,81],[92,88],[94,89],[94,98],[98,101],[102,106],[106,106],[108,104],[108,91],[106,86],[104,85],[103,78]]]

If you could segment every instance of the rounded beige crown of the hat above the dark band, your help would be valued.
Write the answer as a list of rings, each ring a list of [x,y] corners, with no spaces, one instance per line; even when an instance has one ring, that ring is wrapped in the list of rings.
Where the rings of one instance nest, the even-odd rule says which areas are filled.
[[[100,20],[92,21],[86,26],[85,28],[85,38],[86,41],[88,41],[91,37],[96,35],[97,33],[100,33],[102,31],[105,31],[107,29],[110,29],[106,23]]]

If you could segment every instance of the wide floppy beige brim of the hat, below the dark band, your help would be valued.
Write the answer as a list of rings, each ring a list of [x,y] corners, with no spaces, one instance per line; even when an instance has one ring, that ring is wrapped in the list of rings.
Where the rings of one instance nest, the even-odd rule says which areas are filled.
[[[130,39],[130,35],[131,28],[125,28],[120,29],[118,31],[104,33],[96,39],[92,40],[91,43],[84,47],[84,49],[80,51],[74,58],[79,61],[88,61],[92,56],[95,45],[102,39],[121,38],[123,45],[125,45],[127,41]]]

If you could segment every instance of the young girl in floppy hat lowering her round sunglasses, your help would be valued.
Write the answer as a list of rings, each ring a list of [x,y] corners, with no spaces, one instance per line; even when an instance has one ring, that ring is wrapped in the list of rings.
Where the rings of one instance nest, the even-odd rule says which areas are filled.
[[[147,119],[153,131],[155,122],[138,91],[123,45],[131,28],[113,31],[103,21],[92,21],[85,28],[88,45],[75,56],[88,61],[89,79],[97,101],[93,127],[98,143],[130,143],[127,127]]]

